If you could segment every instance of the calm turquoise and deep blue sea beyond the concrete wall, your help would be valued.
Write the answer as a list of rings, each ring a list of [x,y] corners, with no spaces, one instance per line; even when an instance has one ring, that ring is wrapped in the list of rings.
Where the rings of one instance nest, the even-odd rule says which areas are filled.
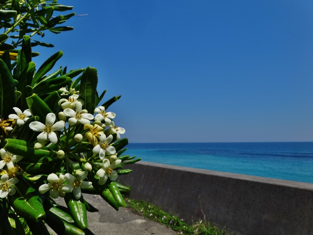
[[[313,142],[129,144],[142,161],[313,183]]]

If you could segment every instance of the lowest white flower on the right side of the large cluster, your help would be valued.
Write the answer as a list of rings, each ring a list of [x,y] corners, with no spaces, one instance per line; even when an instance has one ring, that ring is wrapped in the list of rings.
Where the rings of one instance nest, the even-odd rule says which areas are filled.
[[[121,159],[117,159],[115,162],[110,164],[109,159],[103,159],[103,167],[99,169],[96,175],[100,178],[99,185],[104,185],[108,177],[110,180],[114,181],[117,179],[117,172],[113,170],[115,167],[120,165],[122,162]]]

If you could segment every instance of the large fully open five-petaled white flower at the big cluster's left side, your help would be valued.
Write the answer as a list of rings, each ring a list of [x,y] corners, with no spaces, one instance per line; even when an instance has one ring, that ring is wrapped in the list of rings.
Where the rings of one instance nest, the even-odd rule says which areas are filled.
[[[60,131],[64,128],[64,123],[62,121],[56,122],[55,121],[55,114],[54,113],[48,113],[46,117],[46,125],[40,122],[31,122],[29,124],[29,128],[33,131],[42,131],[37,136],[37,140],[39,142],[44,142],[48,138],[51,141],[52,144],[56,144],[58,142],[58,137],[54,131]],[[54,123],[54,124],[53,124]]]

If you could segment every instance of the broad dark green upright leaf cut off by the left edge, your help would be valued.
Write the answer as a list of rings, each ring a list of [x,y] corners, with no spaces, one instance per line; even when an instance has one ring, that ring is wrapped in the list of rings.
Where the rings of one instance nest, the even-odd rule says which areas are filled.
[[[0,118],[7,119],[16,104],[14,80],[7,65],[0,59]]]

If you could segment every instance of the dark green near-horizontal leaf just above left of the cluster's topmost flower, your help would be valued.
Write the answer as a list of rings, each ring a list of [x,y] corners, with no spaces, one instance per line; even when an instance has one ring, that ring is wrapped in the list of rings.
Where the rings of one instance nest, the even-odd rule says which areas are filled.
[[[51,78],[39,82],[36,86],[33,87],[34,93],[37,94],[47,94],[51,91],[57,91],[61,87],[67,86],[72,83],[72,79],[65,76],[60,76],[56,78]]]

